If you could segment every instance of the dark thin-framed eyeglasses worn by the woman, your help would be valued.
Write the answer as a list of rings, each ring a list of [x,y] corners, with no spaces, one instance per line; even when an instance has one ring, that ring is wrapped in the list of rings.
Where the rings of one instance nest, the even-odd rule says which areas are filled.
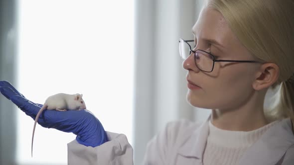
[[[184,60],[188,58],[191,53],[194,53],[194,62],[196,67],[203,72],[212,72],[214,68],[214,62],[238,62],[238,63],[263,63],[259,61],[240,61],[240,60],[216,60],[216,56],[205,52],[203,50],[197,49],[192,50],[188,42],[194,42],[194,40],[179,40],[179,52],[181,58]]]

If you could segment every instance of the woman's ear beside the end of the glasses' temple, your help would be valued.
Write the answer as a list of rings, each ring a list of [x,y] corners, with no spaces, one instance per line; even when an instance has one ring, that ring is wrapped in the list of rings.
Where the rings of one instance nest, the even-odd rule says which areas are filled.
[[[257,72],[252,87],[255,90],[262,90],[270,87],[276,83],[279,79],[280,69],[279,66],[275,63],[266,63],[260,67],[260,70]]]

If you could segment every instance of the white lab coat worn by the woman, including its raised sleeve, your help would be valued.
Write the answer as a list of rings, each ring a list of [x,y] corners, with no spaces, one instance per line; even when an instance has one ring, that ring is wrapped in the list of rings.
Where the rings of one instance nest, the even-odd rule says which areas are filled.
[[[203,165],[208,122],[171,122],[147,145],[143,165]],[[107,132],[109,142],[86,147],[68,144],[68,165],[133,165],[133,149],[123,134]],[[270,127],[243,155],[239,165],[294,165],[294,135],[290,118]]]

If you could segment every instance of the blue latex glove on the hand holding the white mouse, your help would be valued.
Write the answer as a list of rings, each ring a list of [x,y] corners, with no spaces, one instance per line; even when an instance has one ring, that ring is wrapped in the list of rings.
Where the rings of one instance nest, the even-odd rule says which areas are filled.
[[[43,106],[26,99],[10,83],[0,81],[0,92],[26,115],[35,119]],[[108,141],[100,121],[88,110],[44,110],[38,119],[42,127],[55,128],[77,135],[76,140],[85,146],[96,147]]]

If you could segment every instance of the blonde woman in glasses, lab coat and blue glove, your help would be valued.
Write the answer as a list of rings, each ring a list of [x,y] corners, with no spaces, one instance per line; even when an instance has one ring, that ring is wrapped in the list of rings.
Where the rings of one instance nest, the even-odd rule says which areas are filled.
[[[206,2],[192,28],[194,43],[180,39],[180,55],[188,102],[212,113],[204,123],[168,123],[148,143],[144,164],[294,165],[293,0]],[[276,86],[280,97],[266,111],[266,92]],[[35,118],[40,104],[8,82],[0,91]],[[77,135],[68,144],[69,165],[133,164],[127,138],[105,132],[86,110],[45,111],[38,123]]]

